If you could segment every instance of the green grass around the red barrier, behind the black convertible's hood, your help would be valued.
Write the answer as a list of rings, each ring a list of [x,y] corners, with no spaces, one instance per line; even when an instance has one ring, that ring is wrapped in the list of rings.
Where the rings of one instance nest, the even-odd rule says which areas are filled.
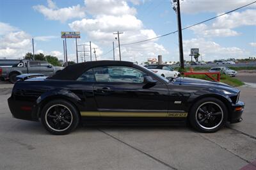
[[[212,81],[212,79],[210,79],[206,75],[188,75],[187,77],[191,77],[191,78],[195,78],[195,79],[203,79],[203,80],[207,80],[207,81]],[[212,75],[212,77],[217,78],[217,75]],[[224,74],[221,75],[220,82],[223,82],[223,83],[228,84],[228,85],[233,86],[233,87],[243,86],[244,85],[244,82],[239,81],[238,79],[236,79],[234,77],[230,77],[230,76],[224,75]]]

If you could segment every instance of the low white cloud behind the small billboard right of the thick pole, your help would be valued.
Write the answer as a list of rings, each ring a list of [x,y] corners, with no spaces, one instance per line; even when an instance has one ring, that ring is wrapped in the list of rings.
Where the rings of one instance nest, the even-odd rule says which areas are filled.
[[[192,38],[191,40],[184,40],[184,56],[190,60],[190,49],[199,48],[200,54],[203,55],[205,61],[212,61],[214,59],[227,58],[242,58],[248,56],[245,50],[239,47],[221,47],[220,44],[212,41],[207,41],[204,38]]]

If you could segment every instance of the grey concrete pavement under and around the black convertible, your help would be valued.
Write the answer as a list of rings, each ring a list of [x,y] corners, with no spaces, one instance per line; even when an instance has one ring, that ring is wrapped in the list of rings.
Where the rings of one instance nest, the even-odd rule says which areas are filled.
[[[256,89],[240,89],[244,120],[214,134],[183,126],[84,125],[59,136],[39,122],[12,118],[10,88],[2,89],[0,169],[255,169]]]

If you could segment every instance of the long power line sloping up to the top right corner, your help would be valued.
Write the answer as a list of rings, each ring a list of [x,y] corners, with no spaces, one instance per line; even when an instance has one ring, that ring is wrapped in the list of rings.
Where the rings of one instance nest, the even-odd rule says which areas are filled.
[[[216,18],[221,17],[221,16],[223,16],[223,15],[227,15],[228,13],[235,12],[235,11],[237,11],[237,10],[240,10],[240,9],[242,9],[242,8],[245,8],[246,6],[250,6],[250,5],[254,4],[254,3],[256,3],[256,1],[253,1],[252,3],[246,4],[246,5],[244,5],[244,6],[241,6],[241,7],[239,7],[239,8],[236,8],[236,9],[231,10],[231,11],[229,11],[229,12],[225,12],[225,13],[223,13],[223,14],[217,15],[217,16],[212,17],[212,18],[210,18],[210,19],[204,20],[204,21],[202,21],[202,22],[197,22],[196,24],[193,24],[193,25],[191,25],[191,26],[184,27],[184,28],[182,28],[182,30],[184,30],[184,29],[189,29],[190,27],[194,27],[194,26],[197,26],[197,25],[199,25],[199,24],[203,24],[204,22],[208,22],[209,20],[216,19]],[[154,39],[157,39],[157,38],[161,38],[161,37],[163,37],[163,36],[172,35],[172,34],[175,34],[175,33],[177,33],[177,32],[178,32],[178,31],[173,31],[173,32],[167,33],[167,34],[165,34],[165,35],[160,35],[160,36],[156,36],[156,37],[154,37],[154,38],[149,38],[149,39],[147,39],[147,40],[141,40],[141,41],[139,41],[139,42],[132,42],[132,43],[123,43],[123,44],[120,44],[120,45],[132,45],[132,44],[135,44],[135,43],[147,42],[147,41],[150,41],[150,40],[154,40]]]

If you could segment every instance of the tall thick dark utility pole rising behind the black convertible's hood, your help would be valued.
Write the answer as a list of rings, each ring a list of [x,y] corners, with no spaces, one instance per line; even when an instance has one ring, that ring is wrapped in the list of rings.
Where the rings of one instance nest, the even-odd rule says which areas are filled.
[[[180,51],[180,68],[184,69],[184,56],[183,56],[183,45],[182,45],[182,28],[180,19],[180,0],[173,0],[173,3],[177,3],[177,8],[173,6],[173,10],[177,13],[178,32],[179,32],[179,51]]]

